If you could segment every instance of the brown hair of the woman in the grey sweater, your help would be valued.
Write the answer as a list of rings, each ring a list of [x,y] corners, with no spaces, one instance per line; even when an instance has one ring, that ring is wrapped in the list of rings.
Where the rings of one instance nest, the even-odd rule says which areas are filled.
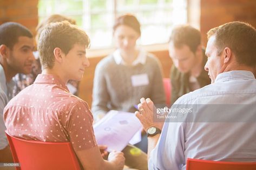
[[[140,23],[137,20],[137,18],[131,14],[122,15],[116,19],[115,24],[113,26],[114,32],[116,28],[120,25],[129,26],[130,28],[134,29],[137,33],[139,33],[139,35],[141,35]]]

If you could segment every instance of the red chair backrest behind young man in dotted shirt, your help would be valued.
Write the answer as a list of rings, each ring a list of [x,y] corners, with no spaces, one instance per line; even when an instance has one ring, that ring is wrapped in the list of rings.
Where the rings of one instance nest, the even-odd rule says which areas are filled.
[[[78,160],[70,142],[43,142],[12,137],[6,131],[16,170],[80,170]]]

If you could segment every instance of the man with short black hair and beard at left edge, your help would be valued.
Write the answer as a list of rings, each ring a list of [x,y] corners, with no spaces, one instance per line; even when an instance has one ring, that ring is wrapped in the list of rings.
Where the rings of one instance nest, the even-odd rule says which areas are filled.
[[[11,99],[14,86],[12,77],[31,72],[34,48],[32,33],[25,26],[14,22],[0,25],[0,162],[12,161],[3,122],[3,109]]]

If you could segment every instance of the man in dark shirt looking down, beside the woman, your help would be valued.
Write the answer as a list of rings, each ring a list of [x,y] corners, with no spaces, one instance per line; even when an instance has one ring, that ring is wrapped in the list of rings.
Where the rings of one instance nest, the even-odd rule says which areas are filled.
[[[199,30],[189,25],[173,29],[169,39],[169,55],[173,60],[170,70],[171,104],[183,94],[211,84],[211,79],[204,70],[207,62],[204,54]]]

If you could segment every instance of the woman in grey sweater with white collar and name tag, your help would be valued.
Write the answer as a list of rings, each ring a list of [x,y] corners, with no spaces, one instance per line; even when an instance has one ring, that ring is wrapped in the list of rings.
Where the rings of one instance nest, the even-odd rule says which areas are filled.
[[[96,66],[92,111],[95,120],[109,110],[135,112],[140,98],[165,104],[162,69],[152,54],[136,47],[140,23],[133,15],[116,19],[113,36],[117,49]]]

